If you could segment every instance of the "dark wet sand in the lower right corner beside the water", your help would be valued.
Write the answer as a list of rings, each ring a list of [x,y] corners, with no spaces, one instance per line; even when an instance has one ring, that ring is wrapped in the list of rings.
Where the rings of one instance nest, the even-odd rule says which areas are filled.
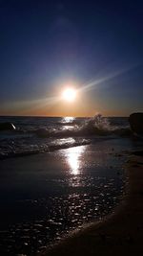
[[[40,256],[143,255],[143,156],[131,155],[126,169],[126,193],[115,212]]]

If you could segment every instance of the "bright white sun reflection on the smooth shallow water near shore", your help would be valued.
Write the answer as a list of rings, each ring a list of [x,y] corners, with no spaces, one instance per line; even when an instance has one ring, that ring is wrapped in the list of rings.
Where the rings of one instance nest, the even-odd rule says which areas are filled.
[[[67,151],[67,160],[72,175],[78,175],[81,166],[81,155],[85,151],[85,146],[74,147]]]

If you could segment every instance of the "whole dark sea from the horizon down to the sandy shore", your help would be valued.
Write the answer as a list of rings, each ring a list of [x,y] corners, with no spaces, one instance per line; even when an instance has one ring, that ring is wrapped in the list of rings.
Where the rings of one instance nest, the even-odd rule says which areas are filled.
[[[142,147],[127,117],[0,117],[0,255],[31,256],[114,211]]]

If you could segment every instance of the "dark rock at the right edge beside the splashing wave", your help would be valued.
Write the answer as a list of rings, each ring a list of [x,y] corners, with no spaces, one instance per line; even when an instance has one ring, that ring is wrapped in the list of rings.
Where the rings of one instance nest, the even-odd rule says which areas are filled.
[[[143,113],[133,113],[129,117],[129,123],[133,132],[143,134]]]

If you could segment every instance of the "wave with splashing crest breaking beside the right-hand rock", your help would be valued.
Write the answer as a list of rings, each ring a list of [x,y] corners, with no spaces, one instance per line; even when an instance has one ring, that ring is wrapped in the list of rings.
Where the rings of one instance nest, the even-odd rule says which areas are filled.
[[[88,119],[80,125],[74,125],[72,127],[68,125],[68,128],[62,129],[45,129],[40,128],[35,130],[35,134],[38,137],[78,137],[78,136],[107,136],[107,135],[120,135],[130,136],[131,129],[129,127],[117,127],[112,126],[109,119],[103,117],[101,114],[97,114],[91,119]],[[65,124],[64,124],[65,126]]]

